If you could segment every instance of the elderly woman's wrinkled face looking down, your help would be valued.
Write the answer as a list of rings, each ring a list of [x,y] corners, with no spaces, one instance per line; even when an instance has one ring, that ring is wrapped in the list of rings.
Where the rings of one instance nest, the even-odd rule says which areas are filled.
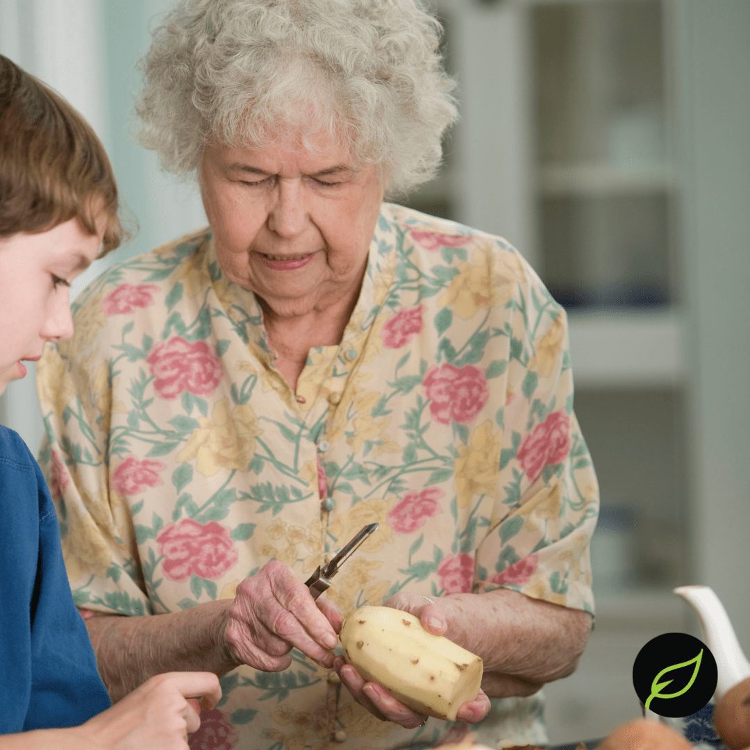
[[[231,281],[278,317],[353,302],[367,265],[383,184],[343,145],[290,136],[264,148],[207,146],[203,205],[217,258]]]

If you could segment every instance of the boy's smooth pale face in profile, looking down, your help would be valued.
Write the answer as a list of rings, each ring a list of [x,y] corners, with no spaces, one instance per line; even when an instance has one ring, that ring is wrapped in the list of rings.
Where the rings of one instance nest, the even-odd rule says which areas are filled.
[[[77,219],[37,234],[0,238],[0,393],[26,375],[46,341],[73,333],[71,281],[97,256],[101,237]]]

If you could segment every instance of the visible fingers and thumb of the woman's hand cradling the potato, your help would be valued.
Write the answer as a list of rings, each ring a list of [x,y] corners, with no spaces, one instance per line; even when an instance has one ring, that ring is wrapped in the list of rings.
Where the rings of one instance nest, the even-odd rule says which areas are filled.
[[[448,619],[440,604],[440,599],[432,599],[417,594],[401,592],[389,598],[386,607],[410,612],[419,617],[422,627],[436,635],[445,635],[448,630]],[[407,729],[414,729],[424,724],[427,717],[405,706],[377,682],[365,682],[352,664],[347,664],[341,656],[336,657],[335,669],[341,682],[347,686],[354,700],[368,709],[371,714],[383,721],[393,721]],[[490,711],[490,699],[480,690],[474,700],[468,700],[460,706],[456,719],[476,724]]]

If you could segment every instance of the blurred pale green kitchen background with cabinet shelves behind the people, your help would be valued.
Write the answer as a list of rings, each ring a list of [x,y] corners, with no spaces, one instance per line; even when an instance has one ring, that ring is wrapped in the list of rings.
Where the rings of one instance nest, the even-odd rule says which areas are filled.
[[[557,742],[603,736],[639,712],[640,647],[699,632],[673,586],[712,586],[750,654],[750,1],[432,5],[462,119],[409,202],[505,236],[568,311],[601,485],[597,619],[577,672],[545,689],[547,723]],[[205,223],[194,185],[133,138],[135,63],[166,7],[0,0],[0,52],[92,122],[139,227],[74,293]],[[33,378],[0,421],[39,444]]]

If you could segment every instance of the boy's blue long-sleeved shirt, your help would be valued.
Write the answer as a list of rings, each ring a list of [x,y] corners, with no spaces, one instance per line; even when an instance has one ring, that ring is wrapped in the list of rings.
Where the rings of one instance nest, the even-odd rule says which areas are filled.
[[[34,457],[0,425],[0,735],[74,727],[111,705]]]

